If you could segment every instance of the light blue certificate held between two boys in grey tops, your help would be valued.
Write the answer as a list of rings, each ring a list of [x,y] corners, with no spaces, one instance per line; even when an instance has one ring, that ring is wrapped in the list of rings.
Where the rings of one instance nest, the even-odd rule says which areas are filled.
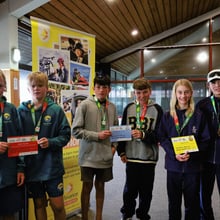
[[[110,131],[112,132],[112,136],[110,137],[111,142],[131,140],[130,125],[112,126],[110,127]]]

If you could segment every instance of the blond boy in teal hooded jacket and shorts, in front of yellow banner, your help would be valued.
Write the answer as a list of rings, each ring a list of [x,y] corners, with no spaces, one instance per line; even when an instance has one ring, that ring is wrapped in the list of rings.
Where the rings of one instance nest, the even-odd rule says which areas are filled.
[[[46,98],[47,75],[32,72],[27,83],[31,100],[18,108],[22,132],[23,135],[38,136],[38,154],[25,156],[28,193],[33,198],[37,220],[47,219],[46,193],[54,219],[65,220],[62,148],[70,140],[70,126],[63,109]]]

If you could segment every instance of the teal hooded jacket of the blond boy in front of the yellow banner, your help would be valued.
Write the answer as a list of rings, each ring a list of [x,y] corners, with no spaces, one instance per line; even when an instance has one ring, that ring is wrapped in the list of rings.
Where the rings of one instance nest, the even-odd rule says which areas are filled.
[[[18,108],[23,135],[35,134],[35,125],[31,115],[31,101],[23,102]],[[36,122],[42,114],[38,139],[46,137],[48,148],[38,147],[38,154],[25,156],[26,181],[45,181],[64,174],[62,148],[70,140],[70,125],[63,109],[48,99],[48,106],[42,113],[42,107],[35,110]]]

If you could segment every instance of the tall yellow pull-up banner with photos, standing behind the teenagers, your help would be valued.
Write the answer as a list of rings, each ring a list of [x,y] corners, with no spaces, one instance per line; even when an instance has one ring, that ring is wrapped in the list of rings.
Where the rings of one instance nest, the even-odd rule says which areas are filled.
[[[32,27],[32,71],[41,71],[49,79],[50,98],[61,105],[71,125],[76,97],[92,94],[95,76],[95,36],[65,26],[31,17]],[[64,94],[63,91],[69,91]],[[78,91],[83,91],[78,93]],[[85,93],[84,93],[85,92]],[[76,95],[77,94],[77,95]],[[80,99],[81,100],[81,99]],[[66,106],[70,110],[66,110]],[[66,214],[80,210],[80,168],[78,166],[78,140],[71,138],[63,148],[64,159],[64,203]],[[33,202],[29,200],[29,218],[34,219]],[[48,219],[53,213],[48,206]]]

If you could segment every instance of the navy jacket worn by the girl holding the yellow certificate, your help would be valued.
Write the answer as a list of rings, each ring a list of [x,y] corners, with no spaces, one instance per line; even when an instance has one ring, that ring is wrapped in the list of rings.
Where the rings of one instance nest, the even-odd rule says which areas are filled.
[[[185,119],[185,110],[176,109],[176,112],[181,127]],[[163,115],[159,127],[158,137],[160,140],[160,145],[166,152],[165,168],[168,171],[192,173],[199,172],[201,170],[202,156],[204,154],[203,152],[207,150],[210,135],[206,119],[204,115],[198,110],[195,110],[194,114],[180,134],[180,136],[187,135],[194,135],[199,148],[199,152],[190,153],[190,158],[188,161],[180,162],[176,159],[176,155],[171,142],[172,137],[178,136],[173,117],[171,117],[170,112],[166,112]]]

